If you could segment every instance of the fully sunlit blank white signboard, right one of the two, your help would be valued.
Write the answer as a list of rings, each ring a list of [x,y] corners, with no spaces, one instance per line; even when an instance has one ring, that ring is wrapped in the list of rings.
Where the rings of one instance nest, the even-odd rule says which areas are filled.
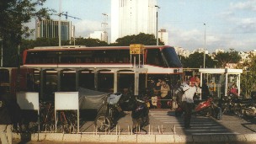
[[[56,92],[55,93],[56,110],[79,109],[78,92]]]

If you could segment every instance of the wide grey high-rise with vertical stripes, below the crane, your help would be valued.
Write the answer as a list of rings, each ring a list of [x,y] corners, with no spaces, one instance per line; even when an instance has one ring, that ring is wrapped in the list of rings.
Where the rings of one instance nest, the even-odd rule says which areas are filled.
[[[36,38],[58,38],[59,37],[59,21],[58,20],[37,20],[35,25]],[[71,40],[74,32],[72,22],[61,20],[61,40]]]

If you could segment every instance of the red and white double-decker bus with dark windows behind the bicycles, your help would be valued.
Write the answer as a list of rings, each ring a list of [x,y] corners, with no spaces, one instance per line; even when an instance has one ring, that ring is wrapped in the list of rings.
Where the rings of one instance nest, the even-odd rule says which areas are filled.
[[[179,57],[168,45],[145,45],[139,55],[131,54],[130,46],[45,46],[25,50],[22,58],[21,68],[33,70],[33,88],[42,98],[80,87],[138,94],[152,79],[172,85],[183,76]]]

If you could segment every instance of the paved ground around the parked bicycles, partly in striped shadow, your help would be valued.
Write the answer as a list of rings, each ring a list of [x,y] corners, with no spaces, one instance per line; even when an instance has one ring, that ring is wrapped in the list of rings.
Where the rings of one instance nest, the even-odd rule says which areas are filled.
[[[192,135],[192,136],[211,136],[211,135],[240,135],[240,134],[255,134],[256,120],[244,120],[235,115],[223,115],[222,120],[216,120],[212,117],[205,117],[201,115],[193,115],[191,120],[192,127],[188,130],[184,129],[184,117],[176,117],[174,112],[169,109],[151,109],[150,125],[147,125],[145,130],[152,135]],[[95,132],[93,119],[88,119],[81,122],[82,126],[80,131],[84,134],[91,134]],[[126,115],[118,121],[117,125],[111,130],[106,131],[111,135],[131,134],[131,113],[127,112]],[[68,143],[68,142],[53,142],[53,141],[26,141],[16,143]],[[72,143],[72,142],[71,142]],[[83,142],[81,142],[83,143]],[[224,142],[228,144],[229,142]],[[234,142],[232,142],[234,143]],[[242,142],[244,143],[244,142]],[[252,142],[253,143],[253,142]]]

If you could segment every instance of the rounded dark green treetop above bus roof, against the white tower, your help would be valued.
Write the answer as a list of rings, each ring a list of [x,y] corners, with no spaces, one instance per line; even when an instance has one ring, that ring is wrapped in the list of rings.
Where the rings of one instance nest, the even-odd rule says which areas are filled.
[[[128,46],[131,44],[157,45],[157,39],[154,35],[140,33],[139,35],[127,35],[125,37],[119,38],[115,40],[115,43],[110,45]],[[164,43],[159,41],[159,45],[164,45]]]

